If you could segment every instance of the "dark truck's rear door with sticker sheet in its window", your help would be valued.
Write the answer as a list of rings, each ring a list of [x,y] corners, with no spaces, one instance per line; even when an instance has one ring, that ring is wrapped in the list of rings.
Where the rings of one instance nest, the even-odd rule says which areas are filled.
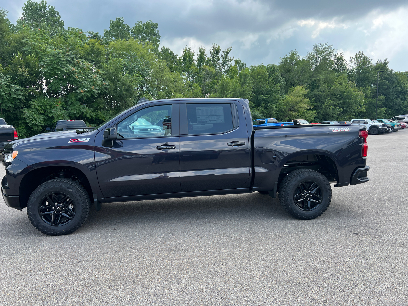
[[[248,188],[250,139],[236,101],[180,103],[183,192]]]

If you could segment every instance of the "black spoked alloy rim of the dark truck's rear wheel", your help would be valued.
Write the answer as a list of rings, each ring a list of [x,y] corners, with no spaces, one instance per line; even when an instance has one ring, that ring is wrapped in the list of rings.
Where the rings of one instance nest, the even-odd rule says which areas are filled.
[[[297,186],[293,202],[302,211],[313,211],[323,201],[322,188],[317,182],[306,181]]]

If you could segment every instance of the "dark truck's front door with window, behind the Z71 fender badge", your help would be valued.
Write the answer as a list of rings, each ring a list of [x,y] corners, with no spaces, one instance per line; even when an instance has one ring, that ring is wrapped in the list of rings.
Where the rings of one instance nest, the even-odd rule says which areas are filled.
[[[95,163],[105,198],[181,191],[178,115],[178,102],[153,102],[112,126],[118,133],[112,148],[98,133]]]

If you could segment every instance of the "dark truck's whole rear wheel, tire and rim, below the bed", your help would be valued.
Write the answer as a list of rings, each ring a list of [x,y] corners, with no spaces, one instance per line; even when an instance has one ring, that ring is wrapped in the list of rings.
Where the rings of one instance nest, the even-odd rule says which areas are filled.
[[[290,172],[279,188],[279,201],[295,218],[310,220],[319,217],[330,205],[330,183],[321,173],[310,169]]]

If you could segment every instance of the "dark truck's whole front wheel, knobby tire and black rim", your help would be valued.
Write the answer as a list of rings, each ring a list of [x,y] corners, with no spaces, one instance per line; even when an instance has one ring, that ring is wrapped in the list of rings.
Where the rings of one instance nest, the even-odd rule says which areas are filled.
[[[54,179],[31,193],[27,215],[41,233],[67,235],[80,228],[88,218],[89,203],[83,186],[72,180]]]

